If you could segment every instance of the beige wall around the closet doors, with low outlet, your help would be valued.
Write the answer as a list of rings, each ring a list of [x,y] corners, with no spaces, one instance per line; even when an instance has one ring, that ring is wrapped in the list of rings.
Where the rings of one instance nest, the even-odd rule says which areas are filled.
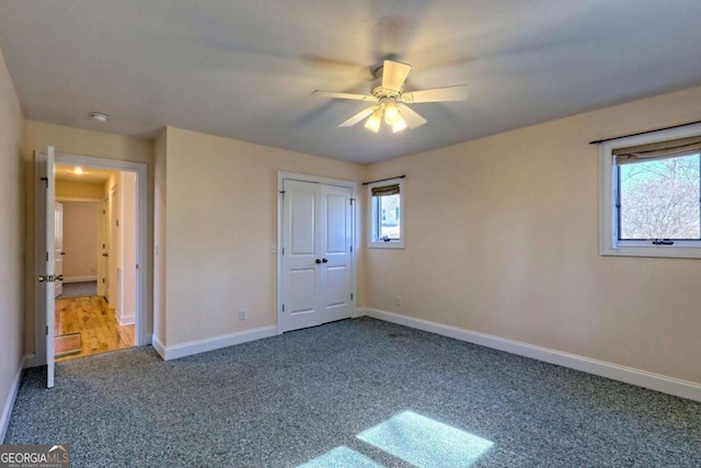
[[[361,181],[365,168],[172,127],[166,147],[163,344],[276,324],[277,171]]]

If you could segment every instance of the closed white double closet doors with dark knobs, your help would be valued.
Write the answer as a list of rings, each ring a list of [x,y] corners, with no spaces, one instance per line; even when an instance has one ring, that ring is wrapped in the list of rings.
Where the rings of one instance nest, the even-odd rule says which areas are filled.
[[[278,175],[278,333],[355,316],[355,183]]]

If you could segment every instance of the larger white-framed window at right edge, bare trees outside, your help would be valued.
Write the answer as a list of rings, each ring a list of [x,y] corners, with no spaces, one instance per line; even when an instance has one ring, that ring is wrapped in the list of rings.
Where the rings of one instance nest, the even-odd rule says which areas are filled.
[[[602,255],[701,258],[701,125],[601,146]]]

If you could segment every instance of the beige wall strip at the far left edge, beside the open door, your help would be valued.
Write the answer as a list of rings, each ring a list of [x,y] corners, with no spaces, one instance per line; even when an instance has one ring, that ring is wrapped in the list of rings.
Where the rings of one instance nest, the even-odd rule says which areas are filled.
[[[20,101],[0,50],[0,442],[4,436],[3,409],[23,357],[23,124]]]

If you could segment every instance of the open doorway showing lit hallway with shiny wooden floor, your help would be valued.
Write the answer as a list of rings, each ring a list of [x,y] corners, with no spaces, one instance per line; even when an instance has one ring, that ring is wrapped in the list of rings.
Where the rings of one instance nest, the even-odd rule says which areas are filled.
[[[135,345],[135,179],[130,172],[55,165],[55,258],[64,263],[55,301],[57,362]]]

